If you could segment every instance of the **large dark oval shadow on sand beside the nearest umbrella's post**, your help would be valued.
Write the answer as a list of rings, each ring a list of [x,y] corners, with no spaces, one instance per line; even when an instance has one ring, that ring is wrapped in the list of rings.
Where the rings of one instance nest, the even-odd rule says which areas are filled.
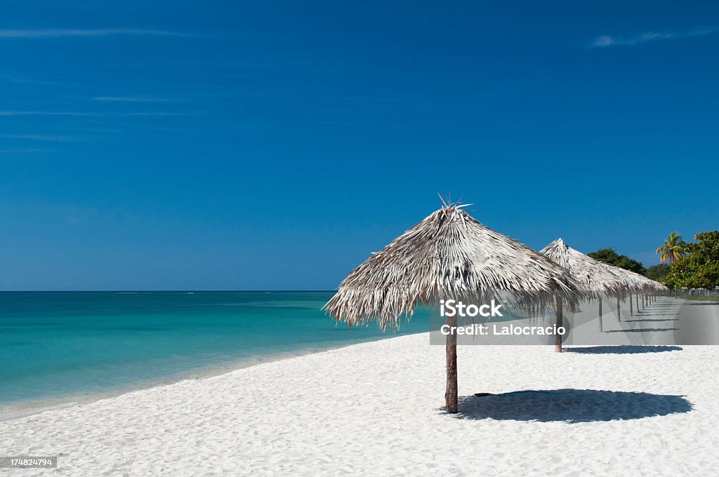
[[[690,412],[682,396],[646,392],[552,389],[459,398],[459,419],[600,422]]]

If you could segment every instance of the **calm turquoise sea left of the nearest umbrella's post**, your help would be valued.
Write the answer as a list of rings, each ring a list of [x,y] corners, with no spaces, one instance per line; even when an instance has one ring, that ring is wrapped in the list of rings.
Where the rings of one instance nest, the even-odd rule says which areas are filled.
[[[331,292],[0,292],[0,418],[429,330],[349,330]]]

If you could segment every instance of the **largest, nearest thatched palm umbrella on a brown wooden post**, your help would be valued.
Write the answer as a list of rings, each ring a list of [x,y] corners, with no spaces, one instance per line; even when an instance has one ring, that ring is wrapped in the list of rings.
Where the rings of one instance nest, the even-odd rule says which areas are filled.
[[[417,306],[441,299],[482,302],[498,292],[512,305],[543,312],[556,294],[576,303],[580,285],[528,246],[445,205],[352,270],[325,305],[349,325],[377,320],[397,328]],[[457,326],[457,317],[446,317]],[[559,339],[561,340],[561,336]],[[457,335],[446,340],[447,412],[457,412]]]

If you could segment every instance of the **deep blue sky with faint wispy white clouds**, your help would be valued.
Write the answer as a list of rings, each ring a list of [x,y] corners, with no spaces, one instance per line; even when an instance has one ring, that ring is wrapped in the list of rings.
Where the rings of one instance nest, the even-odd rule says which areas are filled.
[[[328,290],[439,207],[719,222],[715,2],[6,1],[0,290]]]

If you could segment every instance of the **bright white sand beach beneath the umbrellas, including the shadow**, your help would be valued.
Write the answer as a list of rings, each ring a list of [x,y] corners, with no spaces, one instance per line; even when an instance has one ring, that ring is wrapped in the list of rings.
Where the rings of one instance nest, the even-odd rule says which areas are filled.
[[[5,455],[60,456],[6,473],[717,475],[719,347],[462,346],[459,415],[444,353],[409,335],[0,422]]]

